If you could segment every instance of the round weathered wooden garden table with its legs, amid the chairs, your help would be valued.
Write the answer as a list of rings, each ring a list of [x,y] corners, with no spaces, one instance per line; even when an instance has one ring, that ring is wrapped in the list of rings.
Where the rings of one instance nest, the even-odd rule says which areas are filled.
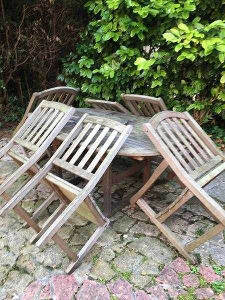
[[[92,115],[103,116],[121,122],[123,124],[131,124],[133,130],[118,151],[117,155],[130,157],[137,160],[131,167],[119,173],[112,173],[111,165],[108,167],[107,171],[103,176],[103,199],[104,199],[104,214],[106,216],[112,215],[115,211],[119,210],[121,207],[129,203],[129,199],[132,194],[124,197],[119,201],[116,207],[112,207],[111,199],[111,187],[127,176],[132,175],[138,170],[143,168],[143,183],[147,181],[150,177],[150,167],[152,156],[158,156],[159,152],[156,150],[154,145],[151,143],[149,138],[142,130],[142,124],[149,120],[148,117],[128,115],[124,113],[119,113],[116,111],[96,109],[96,108],[76,108],[74,115],[74,121],[77,116],[81,116],[84,113],[89,113]],[[74,126],[74,122],[67,123],[60,134],[56,137],[54,142],[54,147],[58,147],[58,143],[64,140],[65,136],[70,132],[71,128]]]

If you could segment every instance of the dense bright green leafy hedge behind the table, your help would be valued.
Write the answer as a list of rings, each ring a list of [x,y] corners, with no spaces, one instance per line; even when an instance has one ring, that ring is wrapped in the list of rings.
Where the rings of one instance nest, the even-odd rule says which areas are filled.
[[[90,0],[91,21],[62,59],[61,81],[85,95],[161,96],[200,122],[225,119],[222,0]]]

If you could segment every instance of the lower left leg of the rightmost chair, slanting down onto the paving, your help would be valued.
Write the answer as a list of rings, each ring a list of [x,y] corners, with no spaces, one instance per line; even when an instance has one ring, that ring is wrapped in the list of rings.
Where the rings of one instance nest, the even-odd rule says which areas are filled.
[[[158,229],[166,236],[166,238],[171,242],[171,244],[178,250],[178,252],[189,260],[191,263],[194,263],[193,258],[187,253],[184,249],[184,246],[180,241],[175,237],[174,233],[165,225],[160,223],[155,218],[155,212],[151,207],[142,199],[138,199],[136,204],[149,216],[150,220],[158,227]]]

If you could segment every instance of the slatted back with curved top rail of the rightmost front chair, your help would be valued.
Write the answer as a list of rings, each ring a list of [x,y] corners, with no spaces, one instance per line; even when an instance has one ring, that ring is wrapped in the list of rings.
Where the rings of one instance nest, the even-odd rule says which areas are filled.
[[[222,153],[188,112],[161,112],[150,123],[161,147],[192,179],[223,163]]]

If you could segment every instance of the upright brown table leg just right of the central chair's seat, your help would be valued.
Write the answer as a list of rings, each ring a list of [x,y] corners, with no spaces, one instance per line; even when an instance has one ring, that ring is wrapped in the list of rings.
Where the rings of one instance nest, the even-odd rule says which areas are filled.
[[[103,176],[103,200],[104,200],[104,215],[111,215],[111,164],[108,166]]]

